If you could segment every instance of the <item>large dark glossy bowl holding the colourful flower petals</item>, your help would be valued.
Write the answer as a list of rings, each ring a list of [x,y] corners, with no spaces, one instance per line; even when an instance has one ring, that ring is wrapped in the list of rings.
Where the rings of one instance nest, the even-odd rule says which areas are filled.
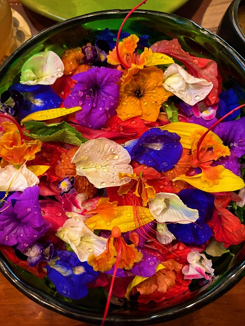
[[[32,37],[19,47],[0,69],[0,88],[8,87],[19,81],[19,73],[25,56],[34,48],[58,50],[58,46],[78,47],[86,42],[94,42],[95,36],[108,27],[117,32],[128,11],[113,10],[97,12],[58,23]],[[175,15],[138,10],[126,22],[124,31],[137,35],[149,35],[149,43],[163,39],[178,38],[185,51],[191,54],[214,59],[219,66],[224,87],[245,85],[245,61],[236,51],[227,46],[218,36],[201,28],[195,23]],[[40,49],[41,50],[41,49]],[[111,305],[106,325],[151,325],[175,319],[184,314],[211,303],[228,291],[240,279],[245,271],[245,246],[233,246],[229,254],[214,257],[213,266],[216,278],[201,288],[198,281],[192,282],[191,295],[187,299],[171,305],[150,303],[138,306],[129,301],[123,306]],[[0,253],[0,271],[3,275],[35,302],[67,317],[99,325],[103,315],[106,298],[103,289],[90,290],[89,295],[78,301],[67,300],[57,295],[45,279],[38,279],[21,267],[8,261]]]

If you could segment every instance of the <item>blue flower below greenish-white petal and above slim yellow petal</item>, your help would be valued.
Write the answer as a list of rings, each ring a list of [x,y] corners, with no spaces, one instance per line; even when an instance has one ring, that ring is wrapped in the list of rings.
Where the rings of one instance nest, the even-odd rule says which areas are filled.
[[[24,95],[24,102],[18,114],[20,119],[33,112],[58,108],[63,101],[49,85],[14,84],[9,88],[9,91],[13,90]]]

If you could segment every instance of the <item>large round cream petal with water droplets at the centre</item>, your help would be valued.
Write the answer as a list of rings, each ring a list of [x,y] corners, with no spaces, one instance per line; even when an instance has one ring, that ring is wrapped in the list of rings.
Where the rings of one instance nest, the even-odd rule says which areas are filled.
[[[76,174],[85,176],[97,188],[122,186],[131,178],[119,179],[118,173],[133,173],[130,155],[113,140],[104,137],[81,144],[72,163],[76,164]]]

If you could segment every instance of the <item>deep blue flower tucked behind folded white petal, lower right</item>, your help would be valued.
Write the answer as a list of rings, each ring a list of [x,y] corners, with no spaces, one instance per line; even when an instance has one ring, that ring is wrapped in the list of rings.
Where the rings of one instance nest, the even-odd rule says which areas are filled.
[[[214,197],[199,189],[183,189],[178,196],[187,207],[198,210],[199,216],[195,223],[169,223],[169,231],[181,242],[203,244],[212,236],[212,230],[206,222],[212,217]]]

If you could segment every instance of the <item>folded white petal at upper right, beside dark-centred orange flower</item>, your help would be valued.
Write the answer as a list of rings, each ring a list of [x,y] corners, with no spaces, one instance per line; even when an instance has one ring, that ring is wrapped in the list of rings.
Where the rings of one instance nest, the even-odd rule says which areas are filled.
[[[189,105],[203,100],[213,88],[211,82],[192,76],[177,64],[170,65],[163,78],[164,88]]]

